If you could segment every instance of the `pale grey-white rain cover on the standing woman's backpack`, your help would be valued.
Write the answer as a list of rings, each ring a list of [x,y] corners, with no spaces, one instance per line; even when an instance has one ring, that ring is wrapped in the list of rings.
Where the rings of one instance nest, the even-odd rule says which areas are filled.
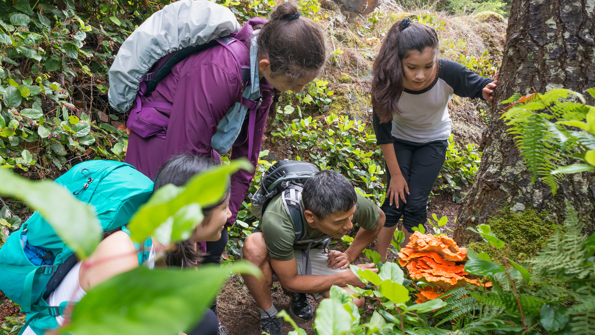
[[[171,52],[237,33],[240,24],[227,7],[207,0],[180,0],[143,22],[120,47],[109,69],[109,104],[127,111],[143,76]]]

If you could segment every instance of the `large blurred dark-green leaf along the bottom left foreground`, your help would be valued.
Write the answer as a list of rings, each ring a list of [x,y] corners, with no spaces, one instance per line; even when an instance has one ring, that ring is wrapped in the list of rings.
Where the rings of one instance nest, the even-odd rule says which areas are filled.
[[[211,306],[230,271],[259,275],[248,262],[220,269],[149,270],[145,267],[117,275],[93,287],[73,310],[61,334],[171,335],[189,333]]]

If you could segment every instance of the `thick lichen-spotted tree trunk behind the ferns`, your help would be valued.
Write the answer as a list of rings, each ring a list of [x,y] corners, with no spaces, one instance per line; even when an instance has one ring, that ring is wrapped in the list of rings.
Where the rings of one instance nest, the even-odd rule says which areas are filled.
[[[467,243],[477,234],[466,227],[485,224],[502,210],[521,212],[534,209],[547,213],[546,219],[562,222],[566,202],[587,222],[586,231],[595,231],[595,176],[567,175],[554,196],[537,181],[506,133],[499,119],[500,105],[515,93],[544,93],[567,88],[584,93],[595,86],[595,0],[514,1],[506,31],[506,45],[490,126],[484,132],[483,157],[475,184],[459,212],[455,240]],[[587,102],[593,99],[587,95]]]

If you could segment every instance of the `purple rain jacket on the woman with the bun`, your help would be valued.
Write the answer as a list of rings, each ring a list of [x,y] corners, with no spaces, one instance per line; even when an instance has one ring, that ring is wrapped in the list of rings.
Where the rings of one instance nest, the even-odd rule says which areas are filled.
[[[242,41],[245,54],[238,55],[242,65],[249,66],[249,45],[255,27],[266,23],[264,18],[251,18],[236,34],[230,37]],[[258,29],[258,27],[256,27]],[[262,78],[260,91],[262,104],[256,111],[252,152],[248,152],[248,127],[243,127],[231,147],[231,159],[245,157],[256,167],[262,135],[267,122],[268,109],[273,100],[273,86]],[[236,60],[221,45],[213,46],[180,61],[171,74],[159,82],[155,91],[148,94],[148,101],[172,103],[171,110],[159,112],[170,117],[165,139],[152,136],[142,138],[130,131],[124,162],[155,179],[159,168],[170,157],[179,154],[196,154],[221,162],[221,156],[211,148],[211,137],[227,110],[242,95],[242,72]],[[231,177],[231,218],[226,226],[236,221],[237,212],[246,197],[254,173],[240,170]]]

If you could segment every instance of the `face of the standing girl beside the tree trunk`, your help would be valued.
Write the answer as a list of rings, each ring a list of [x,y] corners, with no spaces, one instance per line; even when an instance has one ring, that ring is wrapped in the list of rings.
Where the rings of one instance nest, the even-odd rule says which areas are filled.
[[[424,52],[409,51],[403,58],[403,87],[421,91],[431,84],[436,70],[436,49],[425,48]]]

